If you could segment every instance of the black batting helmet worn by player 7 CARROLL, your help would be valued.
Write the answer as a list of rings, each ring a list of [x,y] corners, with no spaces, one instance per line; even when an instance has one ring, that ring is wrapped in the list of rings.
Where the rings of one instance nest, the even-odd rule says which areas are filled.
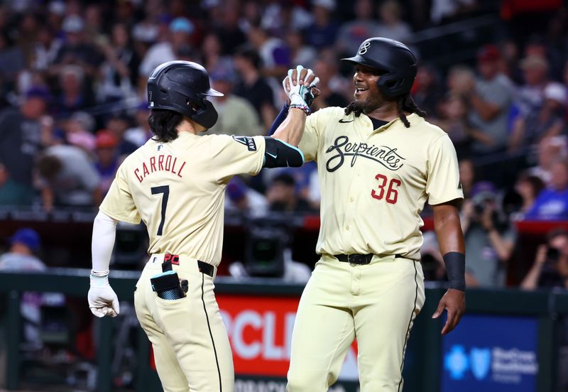
[[[222,97],[209,85],[204,67],[191,61],[170,61],[153,70],[148,77],[148,107],[168,109],[211,128],[219,115],[207,96]]]

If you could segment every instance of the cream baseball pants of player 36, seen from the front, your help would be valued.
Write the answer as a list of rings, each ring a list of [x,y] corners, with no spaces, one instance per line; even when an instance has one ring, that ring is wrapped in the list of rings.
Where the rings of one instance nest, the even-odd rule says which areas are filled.
[[[406,343],[424,300],[418,261],[322,256],[298,305],[287,391],[327,391],[355,338],[361,392],[402,391]]]

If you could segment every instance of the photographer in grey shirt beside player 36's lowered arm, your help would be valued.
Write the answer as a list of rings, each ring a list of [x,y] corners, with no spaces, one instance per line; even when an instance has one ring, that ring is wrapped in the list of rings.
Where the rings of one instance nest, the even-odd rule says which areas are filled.
[[[505,263],[513,253],[516,232],[496,200],[493,184],[481,181],[461,208],[467,287],[505,285]]]

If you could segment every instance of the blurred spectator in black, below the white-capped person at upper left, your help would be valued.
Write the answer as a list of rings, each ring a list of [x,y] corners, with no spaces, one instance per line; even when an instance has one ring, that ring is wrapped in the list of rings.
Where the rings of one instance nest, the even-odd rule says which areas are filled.
[[[79,65],[65,65],[60,68],[61,92],[53,107],[58,119],[65,119],[74,111],[86,111],[94,106],[94,94],[85,84],[84,76],[84,68]]]

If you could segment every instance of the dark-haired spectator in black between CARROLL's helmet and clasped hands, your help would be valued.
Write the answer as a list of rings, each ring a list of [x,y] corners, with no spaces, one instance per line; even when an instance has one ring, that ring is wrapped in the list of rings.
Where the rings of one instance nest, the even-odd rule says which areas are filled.
[[[253,105],[265,129],[270,129],[276,116],[272,89],[260,72],[261,58],[253,48],[241,47],[234,56],[234,65],[240,82],[234,94],[247,99]]]

